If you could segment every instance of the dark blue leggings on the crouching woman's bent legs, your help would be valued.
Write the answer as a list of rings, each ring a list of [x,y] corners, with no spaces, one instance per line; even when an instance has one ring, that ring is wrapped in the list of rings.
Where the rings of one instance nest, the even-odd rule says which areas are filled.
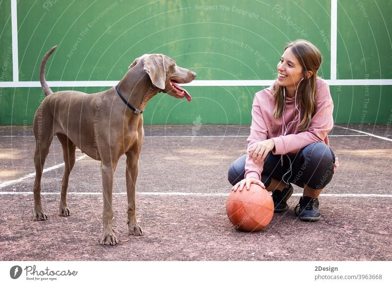
[[[229,166],[227,178],[231,185],[244,179],[246,155]],[[283,166],[280,158],[280,154],[270,152],[264,161],[261,181],[266,187],[270,185],[271,178],[301,188],[307,185],[312,189],[322,189],[332,180],[335,154],[323,142],[313,142],[296,155],[283,155]]]

